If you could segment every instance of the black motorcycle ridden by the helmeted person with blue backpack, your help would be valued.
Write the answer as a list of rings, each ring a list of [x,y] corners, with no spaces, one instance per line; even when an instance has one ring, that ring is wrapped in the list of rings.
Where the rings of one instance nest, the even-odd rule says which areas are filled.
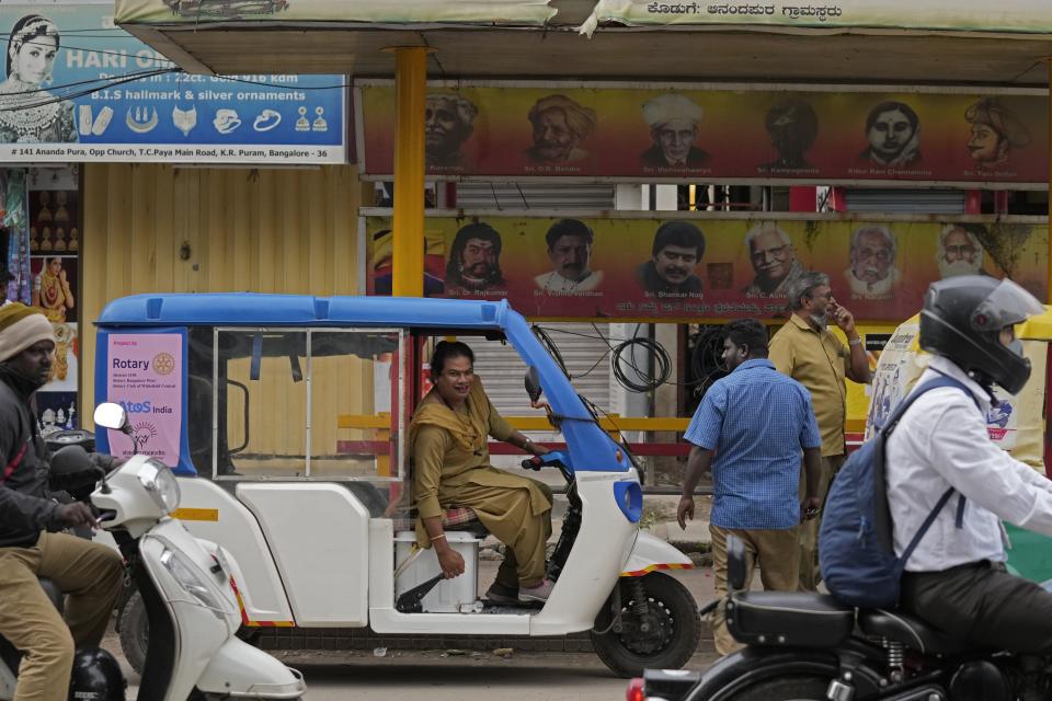
[[[746,590],[744,543],[732,536],[727,548],[727,623],[747,647],[704,675],[648,670],[629,699],[1013,701],[1052,691],[1050,659],[968,646],[897,610]]]

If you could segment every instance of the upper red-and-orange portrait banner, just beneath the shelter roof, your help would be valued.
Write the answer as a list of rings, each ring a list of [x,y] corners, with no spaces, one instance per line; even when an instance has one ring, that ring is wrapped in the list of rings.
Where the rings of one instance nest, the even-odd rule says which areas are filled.
[[[365,174],[390,176],[395,92],[361,88]],[[434,177],[1048,182],[1048,96],[620,87],[428,89]]]

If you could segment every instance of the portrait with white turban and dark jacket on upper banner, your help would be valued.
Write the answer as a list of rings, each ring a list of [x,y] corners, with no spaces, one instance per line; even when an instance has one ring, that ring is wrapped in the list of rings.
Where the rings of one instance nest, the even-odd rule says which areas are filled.
[[[699,168],[709,153],[694,145],[705,111],[689,97],[675,93],[658,95],[643,103],[643,120],[650,125],[654,143],[643,151],[643,165],[653,168]]]

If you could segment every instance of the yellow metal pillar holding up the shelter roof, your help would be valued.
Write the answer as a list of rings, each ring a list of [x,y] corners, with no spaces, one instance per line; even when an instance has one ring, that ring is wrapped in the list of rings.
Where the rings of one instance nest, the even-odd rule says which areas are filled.
[[[424,296],[424,100],[427,49],[395,49],[395,240],[392,294]]]

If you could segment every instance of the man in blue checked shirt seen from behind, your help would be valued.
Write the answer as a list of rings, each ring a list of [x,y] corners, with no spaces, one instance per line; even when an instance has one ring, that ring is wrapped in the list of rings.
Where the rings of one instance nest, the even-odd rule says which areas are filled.
[[[683,497],[676,509],[681,528],[694,519],[694,490],[712,471],[712,572],[720,605],[712,612],[716,650],[729,655],[741,645],[727,630],[727,537],[737,536],[751,555],[748,576],[759,563],[765,589],[794,591],[800,573],[798,526],[814,518],[822,503],[822,437],[808,390],[767,359],[767,330],[752,319],[723,330],[723,361],[731,374],[706,392],[684,434],[694,444],[687,460]],[[801,504],[800,451],[807,473]]]

